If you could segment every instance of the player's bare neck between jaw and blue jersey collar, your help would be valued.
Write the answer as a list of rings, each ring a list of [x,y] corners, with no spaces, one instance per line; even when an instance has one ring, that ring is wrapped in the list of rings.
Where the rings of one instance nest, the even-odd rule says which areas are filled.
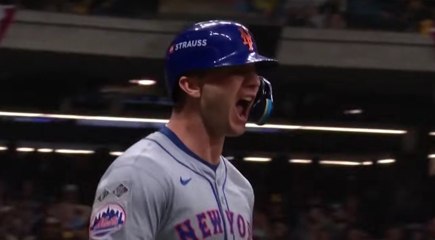
[[[225,136],[210,134],[198,114],[184,111],[173,112],[167,127],[180,138],[186,147],[204,161],[214,165],[219,164]]]

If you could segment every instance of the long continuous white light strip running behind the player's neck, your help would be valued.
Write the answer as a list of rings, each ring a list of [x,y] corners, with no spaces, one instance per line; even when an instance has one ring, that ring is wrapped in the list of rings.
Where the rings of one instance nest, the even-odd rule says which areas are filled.
[[[168,122],[167,119],[155,119],[155,118],[128,118],[128,117],[84,116],[84,115],[19,113],[19,112],[0,112],[0,116],[53,118],[53,119],[69,119],[69,120],[112,121],[112,122],[160,123],[160,124],[166,124]],[[265,124],[265,125],[259,126],[259,125],[253,124],[253,123],[247,123],[246,127],[247,128],[257,128],[257,129],[358,132],[358,133],[374,133],[374,134],[405,134],[405,133],[407,133],[406,130],[400,130],[400,129],[302,126],[302,125],[284,125],[284,124]]]

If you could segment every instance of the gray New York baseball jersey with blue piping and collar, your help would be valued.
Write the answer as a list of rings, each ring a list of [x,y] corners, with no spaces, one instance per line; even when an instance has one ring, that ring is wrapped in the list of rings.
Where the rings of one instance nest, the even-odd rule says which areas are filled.
[[[164,127],[116,159],[98,184],[90,237],[252,239],[254,194],[225,158],[211,165]]]

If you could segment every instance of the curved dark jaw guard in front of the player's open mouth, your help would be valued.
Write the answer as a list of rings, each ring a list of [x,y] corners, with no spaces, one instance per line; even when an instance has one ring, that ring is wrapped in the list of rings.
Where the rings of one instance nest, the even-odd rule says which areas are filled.
[[[264,77],[258,76],[258,78],[260,79],[260,86],[249,112],[249,121],[257,125],[264,125],[273,110],[272,84]]]

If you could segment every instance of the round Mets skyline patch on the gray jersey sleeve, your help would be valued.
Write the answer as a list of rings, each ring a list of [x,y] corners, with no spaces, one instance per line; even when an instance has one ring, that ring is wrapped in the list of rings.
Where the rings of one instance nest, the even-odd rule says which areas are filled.
[[[92,214],[89,235],[100,239],[124,226],[125,210],[119,204],[106,204]]]

